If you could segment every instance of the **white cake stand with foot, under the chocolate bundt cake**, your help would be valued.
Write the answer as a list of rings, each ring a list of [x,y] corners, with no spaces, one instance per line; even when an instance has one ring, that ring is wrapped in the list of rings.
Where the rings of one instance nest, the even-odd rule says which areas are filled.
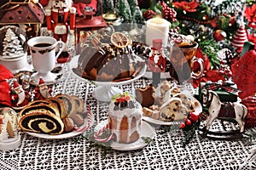
[[[111,97],[115,94],[123,94],[123,91],[120,88],[117,88],[116,86],[128,84],[131,82],[134,82],[135,80],[139,79],[140,77],[143,77],[147,70],[147,65],[144,65],[143,69],[137,74],[136,77],[132,78],[131,80],[126,80],[123,82],[96,82],[91,81],[88,79],[85,79],[84,77],[79,76],[76,74],[73,69],[78,67],[78,61],[79,61],[79,55],[76,55],[73,57],[73,59],[69,63],[70,71],[73,73],[73,75],[81,81],[90,82],[96,84],[96,89],[93,92],[93,97],[99,101],[103,102],[110,102]]]

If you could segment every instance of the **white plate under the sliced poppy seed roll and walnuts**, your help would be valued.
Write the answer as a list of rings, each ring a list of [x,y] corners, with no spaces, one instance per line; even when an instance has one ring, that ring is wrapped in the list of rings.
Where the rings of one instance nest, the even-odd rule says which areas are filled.
[[[92,113],[90,113],[90,118],[91,118],[91,123],[90,123],[90,127],[92,127],[93,125],[93,122],[94,122],[94,115]],[[84,125],[82,125],[81,127],[79,128],[83,128],[83,127],[86,127],[88,122],[87,122],[87,117],[84,119]],[[89,128],[90,128],[89,127]],[[88,128],[88,129],[89,129]],[[87,130],[88,130],[87,129]],[[81,133],[84,133],[84,131],[76,131],[76,130],[73,130],[72,132],[70,133],[61,133],[61,134],[56,134],[56,135],[50,135],[50,134],[44,134],[44,133],[30,133],[30,132],[26,132],[28,133],[29,135],[31,136],[34,136],[34,137],[38,137],[38,138],[41,138],[41,139],[68,139],[68,138],[72,138],[74,136],[77,136]]]

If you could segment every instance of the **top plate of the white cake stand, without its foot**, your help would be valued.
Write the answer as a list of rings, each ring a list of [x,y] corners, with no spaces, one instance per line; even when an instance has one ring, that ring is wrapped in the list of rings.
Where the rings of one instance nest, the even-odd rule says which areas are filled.
[[[147,65],[145,65],[143,67],[143,69],[139,72],[139,74],[137,74],[136,77],[130,79],[130,80],[127,80],[127,81],[123,81],[123,82],[96,82],[96,81],[90,81],[90,80],[87,80],[85,79],[84,77],[80,77],[79,75],[77,75],[75,72],[73,72],[73,68],[77,68],[78,67],[78,64],[79,64],[79,55],[76,55],[73,57],[73,59],[71,59],[71,61],[69,62],[69,68],[70,68],[70,71],[73,73],[73,75],[77,78],[79,78],[79,80],[81,81],[86,81],[86,82],[95,82],[96,85],[98,86],[119,86],[119,85],[124,85],[124,84],[127,84],[127,83],[130,83],[130,82],[133,82],[137,79],[139,79],[140,77],[143,77],[143,75],[145,74],[145,72],[147,71]]]

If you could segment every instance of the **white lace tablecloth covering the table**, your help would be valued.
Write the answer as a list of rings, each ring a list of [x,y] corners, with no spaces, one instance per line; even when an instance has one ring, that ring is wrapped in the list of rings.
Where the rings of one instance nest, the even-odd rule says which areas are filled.
[[[108,118],[108,103],[93,98],[96,88],[79,81],[65,68],[65,75],[53,86],[55,94],[75,94],[90,105],[95,125]],[[147,85],[149,80],[139,79],[120,86],[134,93],[135,88]],[[98,147],[90,148],[90,141],[81,135],[70,139],[38,139],[20,132],[21,144],[16,150],[0,151],[0,169],[256,169],[255,160],[248,160],[253,146],[243,140],[223,141],[201,139],[200,135],[183,147],[180,130],[157,133],[154,141],[140,150],[113,150],[104,155]]]

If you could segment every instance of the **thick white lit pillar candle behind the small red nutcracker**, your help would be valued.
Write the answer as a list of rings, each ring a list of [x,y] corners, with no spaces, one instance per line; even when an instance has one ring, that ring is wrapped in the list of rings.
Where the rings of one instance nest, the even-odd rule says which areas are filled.
[[[154,39],[162,39],[163,46],[166,47],[170,25],[168,20],[161,18],[147,20],[146,43],[152,46]]]

